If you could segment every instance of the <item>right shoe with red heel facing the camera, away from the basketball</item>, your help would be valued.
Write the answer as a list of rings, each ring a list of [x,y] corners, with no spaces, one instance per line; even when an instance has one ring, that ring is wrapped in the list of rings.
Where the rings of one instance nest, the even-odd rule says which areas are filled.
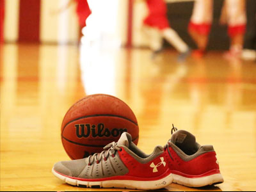
[[[188,131],[173,127],[164,151],[174,183],[197,188],[223,182],[212,145],[199,145]]]

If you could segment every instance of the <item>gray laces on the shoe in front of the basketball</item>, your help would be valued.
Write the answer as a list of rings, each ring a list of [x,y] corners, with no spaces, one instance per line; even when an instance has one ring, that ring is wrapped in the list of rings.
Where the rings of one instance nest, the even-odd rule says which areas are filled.
[[[99,159],[97,159],[98,153],[93,154],[93,156],[89,156],[88,158],[86,158],[88,165],[92,165],[92,163],[94,161],[96,161],[96,163],[98,164],[101,161],[101,159],[104,159],[104,161],[107,161],[109,155],[111,155],[112,157],[115,157],[115,152],[117,150],[119,150],[119,151],[122,150],[122,148],[117,147],[117,143],[115,143],[115,141],[113,141],[112,143],[109,143],[103,149],[104,150],[102,150],[102,152],[100,152],[100,154],[99,154]],[[108,150],[108,151],[107,151],[107,155],[105,157],[106,150]],[[92,161],[91,161],[91,159],[92,159]]]

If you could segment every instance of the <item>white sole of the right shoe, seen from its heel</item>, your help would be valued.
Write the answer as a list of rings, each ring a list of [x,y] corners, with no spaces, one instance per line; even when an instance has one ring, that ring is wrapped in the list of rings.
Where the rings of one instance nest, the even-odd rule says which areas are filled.
[[[198,177],[198,178],[182,177],[176,174],[172,174],[172,175],[173,175],[174,183],[181,184],[183,186],[193,187],[193,188],[200,188],[202,186],[208,186],[212,184],[220,184],[221,182],[224,181],[220,173],[208,175],[205,177]]]

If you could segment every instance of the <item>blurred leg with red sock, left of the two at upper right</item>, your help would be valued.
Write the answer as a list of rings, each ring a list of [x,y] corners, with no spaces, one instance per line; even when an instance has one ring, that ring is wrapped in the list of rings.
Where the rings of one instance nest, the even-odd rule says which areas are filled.
[[[196,58],[201,58],[205,54],[212,24],[212,8],[212,0],[196,0],[193,7],[188,31],[198,47],[192,53]]]

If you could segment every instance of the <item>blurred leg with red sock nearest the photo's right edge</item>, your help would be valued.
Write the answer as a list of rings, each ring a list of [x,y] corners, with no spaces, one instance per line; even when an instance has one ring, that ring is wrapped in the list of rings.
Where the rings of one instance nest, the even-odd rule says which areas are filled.
[[[221,22],[222,24],[227,22],[228,36],[230,36],[230,48],[224,56],[225,58],[240,58],[246,30],[245,0],[225,0],[222,11],[222,14],[226,16]]]

